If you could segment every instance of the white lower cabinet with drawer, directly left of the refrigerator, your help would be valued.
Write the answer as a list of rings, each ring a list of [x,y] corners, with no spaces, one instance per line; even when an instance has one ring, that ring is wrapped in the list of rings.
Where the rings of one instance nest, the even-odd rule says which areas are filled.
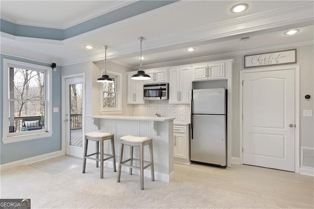
[[[173,143],[174,161],[189,163],[189,125],[173,126]]]

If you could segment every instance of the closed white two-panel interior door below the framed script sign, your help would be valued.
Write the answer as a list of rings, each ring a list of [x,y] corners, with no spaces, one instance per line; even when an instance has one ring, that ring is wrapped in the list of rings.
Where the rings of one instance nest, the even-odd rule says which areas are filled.
[[[294,171],[295,69],[243,73],[243,163]]]

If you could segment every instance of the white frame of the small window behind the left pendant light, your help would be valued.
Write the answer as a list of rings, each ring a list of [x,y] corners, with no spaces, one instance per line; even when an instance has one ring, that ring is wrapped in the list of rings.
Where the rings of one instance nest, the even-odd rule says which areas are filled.
[[[104,74],[105,70],[102,69],[102,75]],[[101,100],[100,100],[100,112],[101,114],[106,115],[119,115],[122,114],[122,74],[106,70],[106,73],[109,77],[115,78],[115,93],[116,93],[116,107],[103,107],[103,86],[104,84],[101,83]]]

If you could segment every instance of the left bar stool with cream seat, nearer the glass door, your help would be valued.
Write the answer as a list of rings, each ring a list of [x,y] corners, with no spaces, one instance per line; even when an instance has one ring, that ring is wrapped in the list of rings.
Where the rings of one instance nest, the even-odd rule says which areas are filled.
[[[109,139],[111,140],[112,155],[104,153],[104,141],[109,140]],[[96,153],[87,155],[88,140],[96,142]],[[100,142],[100,152],[99,152],[99,142]],[[96,157],[90,157],[90,156],[94,156],[94,155]],[[99,159],[99,155],[100,155],[100,159]],[[107,158],[104,159],[104,155],[107,156]],[[114,134],[102,133],[102,132],[85,133],[83,171],[82,171],[82,173],[85,173],[86,159],[96,160],[96,167],[97,168],[98,168],[98,162],[100,161],[100,178],[103,179],[104,178],[104,161],[107,159],[111,159],[111,158],[113,158],[113,172],[116,172],[116,157],[115,157],[115,153],[114,153]]]

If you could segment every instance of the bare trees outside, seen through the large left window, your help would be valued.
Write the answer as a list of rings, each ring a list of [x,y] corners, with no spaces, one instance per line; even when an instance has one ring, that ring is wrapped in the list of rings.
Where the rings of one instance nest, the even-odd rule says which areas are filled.
[[[9,67],[10,72],[10,126],[14,119],[15,131],[43,128],[45,115],[44,77],[42,71]],[[27,121],[25,123],[25,121]],[[29,121],[35,121],[33,124]],[[38,123],[37,123],[38,121]],[[28,124],[29,130],[26,127]]]

